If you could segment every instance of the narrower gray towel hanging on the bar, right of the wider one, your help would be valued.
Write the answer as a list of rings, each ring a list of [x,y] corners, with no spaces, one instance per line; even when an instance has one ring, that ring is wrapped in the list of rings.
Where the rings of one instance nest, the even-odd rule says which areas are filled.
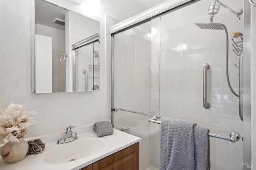
[[[195,170],[210,170],[209,129],[194,125]]]

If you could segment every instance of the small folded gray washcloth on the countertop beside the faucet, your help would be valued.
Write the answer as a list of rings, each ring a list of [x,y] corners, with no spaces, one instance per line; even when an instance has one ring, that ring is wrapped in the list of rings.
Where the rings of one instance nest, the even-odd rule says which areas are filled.
[[[114,129],[109,121],[99,121],[94,123],[94,131],[97,133],[98,137],[111,135],[114,132]]]

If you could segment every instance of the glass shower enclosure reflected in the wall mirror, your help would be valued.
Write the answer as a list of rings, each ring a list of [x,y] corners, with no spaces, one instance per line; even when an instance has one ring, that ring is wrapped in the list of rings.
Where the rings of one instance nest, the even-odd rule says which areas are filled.
[[[73,92],[99,91],[100,44],[98,34],[93,35],[88,39],[72,45]]]

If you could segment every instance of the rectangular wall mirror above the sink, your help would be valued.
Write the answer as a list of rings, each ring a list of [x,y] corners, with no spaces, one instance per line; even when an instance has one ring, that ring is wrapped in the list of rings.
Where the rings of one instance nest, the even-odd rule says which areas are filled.
[[[33,6],[32,92],[99,91],[99,21],[45,0]]]

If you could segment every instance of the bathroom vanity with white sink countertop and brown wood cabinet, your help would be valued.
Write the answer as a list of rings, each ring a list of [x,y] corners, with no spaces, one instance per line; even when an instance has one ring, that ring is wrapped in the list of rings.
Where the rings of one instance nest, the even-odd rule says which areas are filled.
[[[25,139],[41,139],[45,143],[42,153],[26,155],[23,160],[8,164],[0,159],[2,170],[98,170],[139,169],[140,138],[114,129],[112,135],[97,137],[93,124],[73,129],[78,139],[56,144],[64,131],[51,135]]]

